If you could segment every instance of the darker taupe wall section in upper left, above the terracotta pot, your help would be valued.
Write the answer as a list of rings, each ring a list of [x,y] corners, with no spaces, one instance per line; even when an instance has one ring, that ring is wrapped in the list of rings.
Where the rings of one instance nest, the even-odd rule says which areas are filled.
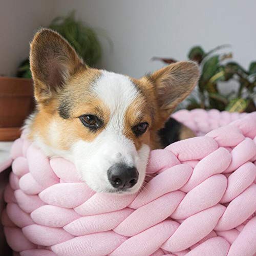
[[[29,41],[54,17],[55,0],[0,0],[0,75],[13,76],[28,56]]]

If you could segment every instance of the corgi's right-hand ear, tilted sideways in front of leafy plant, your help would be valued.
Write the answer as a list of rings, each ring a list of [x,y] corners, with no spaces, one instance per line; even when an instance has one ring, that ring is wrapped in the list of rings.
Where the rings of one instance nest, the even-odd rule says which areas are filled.
[[[199,67],[193,61],[173,63],[150,75],[159,110],[164,118],[168,118],[176,106],[191,93],[199,75]]]

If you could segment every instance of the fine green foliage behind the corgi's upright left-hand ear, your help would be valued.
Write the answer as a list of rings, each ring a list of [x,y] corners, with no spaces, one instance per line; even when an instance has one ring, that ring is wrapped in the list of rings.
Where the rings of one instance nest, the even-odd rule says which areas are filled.
[[[93,67],[100,59],[101,46],[96,32],[76,20],[74,11],[68,16],[54,18],[49,28],[66,38],[87,65]],[[31,78],[28,58],[20,63],[17,77]]]

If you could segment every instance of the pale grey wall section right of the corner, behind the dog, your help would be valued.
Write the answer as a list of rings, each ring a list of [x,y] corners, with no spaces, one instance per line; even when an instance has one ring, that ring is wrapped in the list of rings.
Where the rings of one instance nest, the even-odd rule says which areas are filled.
[[[106,30],[114,43],[101,66],[139,77],[162,67],[153,56],[186,59],[191,46],[206,50],[231,44],[234,59],[247,67],[256,59],[254,0],[57,0],[58,12]]]

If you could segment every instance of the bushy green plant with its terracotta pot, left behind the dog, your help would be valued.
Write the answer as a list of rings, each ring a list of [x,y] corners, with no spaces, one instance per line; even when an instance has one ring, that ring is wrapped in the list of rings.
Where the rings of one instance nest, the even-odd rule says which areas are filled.
[[[49,28],[65,37],[89,66],[101,57],[101,46],[95,31],[75,19],[72,12],[66,17],[56,17]],[[23,60],[17,77],[0,77],[0,141],[19,137],[20,127],[33,111],[33,81],[29,59]]]

